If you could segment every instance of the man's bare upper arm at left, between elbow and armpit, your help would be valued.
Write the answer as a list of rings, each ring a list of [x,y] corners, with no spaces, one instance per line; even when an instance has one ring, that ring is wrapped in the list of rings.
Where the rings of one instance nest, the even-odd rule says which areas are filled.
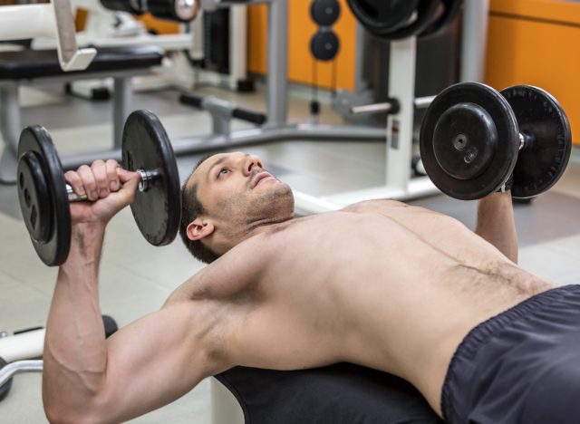
[[[102,413],[126,420],[193,389],[219,367],[208,340],[208,304],[171,303],[121,328],[108,341]]]

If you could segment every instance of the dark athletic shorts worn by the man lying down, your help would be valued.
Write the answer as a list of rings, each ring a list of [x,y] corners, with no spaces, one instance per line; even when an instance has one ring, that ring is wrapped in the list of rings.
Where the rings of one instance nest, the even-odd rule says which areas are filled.
[[[449,423],[580,423],[580,285],[537,294],[469,332],[441,410]]]

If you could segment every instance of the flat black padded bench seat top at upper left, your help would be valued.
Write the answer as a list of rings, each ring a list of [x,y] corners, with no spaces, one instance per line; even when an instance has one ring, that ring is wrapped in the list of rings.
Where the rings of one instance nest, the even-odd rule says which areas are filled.
[[[29,80],[87,72],[117,72],[160,65],[163,51],[154,46],[97,48],[97,55],[83,71],[64,72],[56,50],[22,50],[0,53],[0,80]]]

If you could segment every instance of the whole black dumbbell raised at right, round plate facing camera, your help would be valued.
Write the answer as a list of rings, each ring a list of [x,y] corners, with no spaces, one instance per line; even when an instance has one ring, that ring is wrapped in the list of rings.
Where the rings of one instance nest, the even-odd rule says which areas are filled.
[[[512,197],[536,197],[562,176],[571,150],[565,111],[530,85],[502,92],[477,82],[452,85],[431,102],[420,129],[430,179],[463,200],[498,191],[512,175]]]

